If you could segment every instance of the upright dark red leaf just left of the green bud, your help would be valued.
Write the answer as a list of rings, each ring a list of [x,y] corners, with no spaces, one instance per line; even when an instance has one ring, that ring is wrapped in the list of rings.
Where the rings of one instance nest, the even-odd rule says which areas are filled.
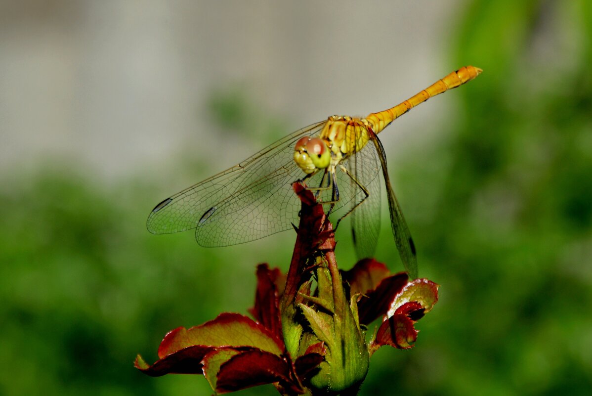
[[[255,306],[250,308],[249,313],[278,339],[281,339],[282,323],[279,299],[284,292],[286,277],[278,268],[269,269],[267,264],[260,264],[257,267],[257,279]]]

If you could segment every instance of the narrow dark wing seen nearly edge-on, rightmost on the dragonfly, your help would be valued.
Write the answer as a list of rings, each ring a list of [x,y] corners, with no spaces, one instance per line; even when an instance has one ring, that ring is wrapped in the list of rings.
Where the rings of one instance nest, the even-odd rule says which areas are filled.
[[[391,227],[395,244],[397,245],[399,255],[401,256],[401,261],[403,261],[403,265],[407,271],[407,274],[411,279],[416,279],[417,255],[415,244],[411,238],[411,233],[409,231],[409,227],[407,227],[407,222],[403,217],[403,212],[401,212],[401,208],[399,207],[397,197],[395,197],[395,192],[392,190],[391,181],[388,177],[387,157],[384,152],[384,147],[382,147],[381,141],[374,132],[371,132],[371,140],[374,144],[374,147],[377,149],[378,158],[382,165],[382,176],[384,176],[384,183],[387,188],[388,209],[391,216]],[[368,142],[368,144],[372,143]]]

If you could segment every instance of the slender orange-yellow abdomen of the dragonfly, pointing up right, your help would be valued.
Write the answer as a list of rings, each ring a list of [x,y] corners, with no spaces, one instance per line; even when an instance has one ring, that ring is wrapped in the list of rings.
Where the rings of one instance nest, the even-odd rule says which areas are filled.
[[[403,103],[400,103],[395,107],[391,107],[388,110],[369,114],[368,117],[366,117],[366,120],[372,126],[374,133],[379,133],[385,127],[387,127],[388,124],[392,123],[392,121],[394,121],[397,117],[400,117],[407,111],[411,110],[411,108],[414,108],[420,103],[427,101],[427,99],[432,98],[432,96],[442,94],[442,92],[446,92],[449,89],[456,88],[465,82],[471,81],[482,71],[483,70],[474,66],[461,67],[460,69],[456,70],[456,72],[452,72],[445,78],[436,81],[422,92],[411,96],[411,98],[407,99]]]

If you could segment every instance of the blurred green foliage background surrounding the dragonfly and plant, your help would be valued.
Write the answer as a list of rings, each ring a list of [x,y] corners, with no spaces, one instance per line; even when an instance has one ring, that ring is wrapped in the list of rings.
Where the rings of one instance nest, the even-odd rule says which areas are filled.
[[[70,7],[43,4],[31,7],[39,12],[51,12],[56,4]],[[420,276],[442,287],[439,304],[419,322],[416,347],[379,350],[361,395],[590,395],[592,3],[451,5],[455,8],[446,14],[448,22],[433,38],[439,50],[427,54],[433,62],[430,75],[412,74],[411,91],[386,82],[365,86],[366,76],[342,76],[350,82],[343,92],[366,114],[394,105],[462,65],[484,69],[475,81],[404,117],[426,118],[429,107],[454,104],[428,115],[421,128],[401,118],[382,137],[416,240]],[[11,11],[11,6],[2,4],[2,10]],[[406,11],[397,9],[399,17]],[[169,22],[173,17],[166,15]],[[369,41],[368,47],[326,50],[349,51],[346,59],[362,57],[366,63],[360,70],[368,75],[375,67],[388,69],[379,52],[387,49],[401,65],[415,69],[413,51],[397,54],[396,41],[412,47],[423,28],[421,19],[416,22],[403,37],[368,33],[390,44]],[[384,29],[381,34],[388,32]],[[215,42],[217,32],[211,34],[195,40]],[[8,39],[4,36],[4,50]],[[303,46],[297,50],[305,54],[310,49]],[[315,72],[306,56],[293,61],[301,62],[292,65],[295,69]],[[218,66],[223,67],[213,67]],[[431,70],[439,72],[432,75]],[[72,78],[77,73],[73,67]],[[283,78],[298,84],[300,76]],[[401,71],[388,81],[407,79]],[[144,221],[162,198],[242,160],[257,147],[224,165],[212,163],[202,152],[221,150],[226,155],[226,147],[234,145],[229,142],[236,139],[253,139],[262,147],[316,121],[301,120],[289,108],[262,105],[249,87],[214,84],[200,106],[210,126],[196,133],[219,134],[226,146],[200,145],[202,138],[196,137],[187,140],[190,145],[176,145],[175,156],[166,162],[144,163],[145,168],[125,177],[105,178],[78,157],[47,159],[51,153],[34,161],[2,162],[1,395],[211,394],[201,376],[149,378],[133,368],[133,359],[141,353],[147,361],[155,360],[158,343],[175,327],[200,324],[222,311],[246,313],[253,302],[256,264],[269,262],[285,271],[294,235],[288,231],[249,244],[203,249],[191,232],[156,237],[147,233]],[[20,92],[24,99],[4,92],[4,105],[34,101],[27,92]],[[391,99],[366,108],[374,105],[373,92]],[[166,107],[166,98],[159,105]],[[339,109],[327,102],[317,118],[334,111]],[[133,104],[122,112],[133,112]],[[2,114],[2,155],[14,155],[6,144],[18,131],[8,123],[8,111]],[[101,118],[100,109],[96,118]],[[388,135],[397,135],[392,139],[400,150]],[[107,167],[109,153],[104,154]],[[383,218],[377,259],[399,271],[386,211]],[[338,260],[350,268],[349,236],[341,232]],[[275,389],[239,394],[271,395]]]

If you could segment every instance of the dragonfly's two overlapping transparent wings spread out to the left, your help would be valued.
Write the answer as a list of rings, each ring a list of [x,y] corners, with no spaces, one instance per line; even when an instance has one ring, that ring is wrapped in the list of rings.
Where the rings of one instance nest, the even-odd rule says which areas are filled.
[[[160,202],[148,217],[148,230],[168,234],[195,228],[197,242],[213,247],[250,242],[291,229],[300,211],[292,183],[304,177],[293,159],[294,145],[301,137],[318,134],[325,123],[302,128]],[[349,185],[347,175],[337,173],[340,201],[335,210],[360,192]],[[318,172],[307,183],[318,186],[322,178],[323,172]],[[317,199],[329,201],[330,191],[321,191]]]

